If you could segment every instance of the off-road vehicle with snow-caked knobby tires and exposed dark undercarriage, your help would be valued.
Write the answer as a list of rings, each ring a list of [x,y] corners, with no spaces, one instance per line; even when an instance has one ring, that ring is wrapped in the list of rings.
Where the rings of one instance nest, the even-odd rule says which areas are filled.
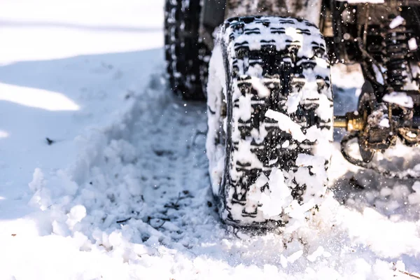
[[[342,154],[420,141],[419,0],[167,0],[172,90],[207,99],[211,186],[225,223],[302,221],[325,196],[334,127]],[[360,64],[358,110],[334,116],[331,64]],[[347,148],[356,140],[360,157]],[[417,177],[410,170],[403,176]]]

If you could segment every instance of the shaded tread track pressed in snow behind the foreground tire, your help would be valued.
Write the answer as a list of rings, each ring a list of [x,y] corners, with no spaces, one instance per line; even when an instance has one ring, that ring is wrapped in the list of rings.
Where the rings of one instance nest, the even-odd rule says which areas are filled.
[[[191,248],[201,234],[197,227],[220,224],[209,188],[206,106],[168,99],[157,118],[144,116],[134,127],[132,139],[137,139],[134,145],[141,155],[137,166],[146,183],[143,221],[163,232],[167,241]]]

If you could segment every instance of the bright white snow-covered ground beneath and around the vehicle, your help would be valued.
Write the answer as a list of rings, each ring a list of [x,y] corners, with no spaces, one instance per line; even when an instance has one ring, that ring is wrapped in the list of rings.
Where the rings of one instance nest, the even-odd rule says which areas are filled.
[[[357,169],[338,142],[307,227],[221,224],[206,106],[162,80],[162,6],[2,1],[0,279],[416,279],[420,183]],[[333,74],[336,111],[354,109],[360,74]],[[388,155],[402,169],[419,151]]]

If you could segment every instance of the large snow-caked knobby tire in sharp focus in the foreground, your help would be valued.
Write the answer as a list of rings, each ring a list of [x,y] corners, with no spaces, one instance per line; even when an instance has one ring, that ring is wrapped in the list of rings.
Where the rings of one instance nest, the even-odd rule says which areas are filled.
[[[306,20],[231,18],[209,64],[207,155],[221,218],[304,221],[325,196],[332,92],[325,41]]]

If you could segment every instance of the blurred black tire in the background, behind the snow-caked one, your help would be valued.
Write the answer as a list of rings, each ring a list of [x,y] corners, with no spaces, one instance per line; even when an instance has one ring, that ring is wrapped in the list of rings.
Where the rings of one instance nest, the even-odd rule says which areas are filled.
[[[200,42],[200,0],[165,3],[165,58],[172,90],[184,99],[204,99],[207,50]]]

